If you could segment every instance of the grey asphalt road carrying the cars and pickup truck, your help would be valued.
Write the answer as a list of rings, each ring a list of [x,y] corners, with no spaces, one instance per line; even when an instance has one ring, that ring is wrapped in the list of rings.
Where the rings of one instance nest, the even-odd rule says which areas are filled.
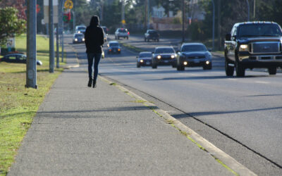
[[[142,37],[120,41],[147,51],[178,43],[148,43]],[[85,45],[72,46],[80,64],[87,64]],[[136,56],[124,48],[121,54],[106,54],[99,73],[153,101],[258,175],[282,175],[281,73],[247,70],[246,77],[226,77],[223,58],[214,58],[213,70],[136,68]]]

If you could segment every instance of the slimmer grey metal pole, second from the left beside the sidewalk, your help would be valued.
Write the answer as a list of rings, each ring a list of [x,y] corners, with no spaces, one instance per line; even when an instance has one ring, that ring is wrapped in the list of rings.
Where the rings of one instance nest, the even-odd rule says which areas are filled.
[[[49,0],[49,73],[54,73],[53,0]]]

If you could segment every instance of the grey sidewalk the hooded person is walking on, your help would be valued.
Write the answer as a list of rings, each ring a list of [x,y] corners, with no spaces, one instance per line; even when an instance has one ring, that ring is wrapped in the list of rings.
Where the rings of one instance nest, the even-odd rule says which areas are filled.
[[[73,58],[75,59],[75,58]],[[234,175],[128,92],[65,70],[8,175]]]

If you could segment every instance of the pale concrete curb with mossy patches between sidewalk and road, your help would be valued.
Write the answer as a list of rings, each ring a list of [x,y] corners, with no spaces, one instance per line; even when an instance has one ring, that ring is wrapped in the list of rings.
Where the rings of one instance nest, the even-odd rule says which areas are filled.
[[[228,169],[234,175],[256,175],[254,172],[246,168],[244,165],[240,164],[238,161],[236,161],[234,158],[229,156],[227,153],[221,151],[221,149],[217,148],[216,146],[214,146],[214,144],[207,141],[207,139],[204,139],[202,136],[200,136],[200,134],[197,134],[197,132],[191,130],[186,125],[183,125],[183,123],[180,122],[179,120],[176,120],[176,118],[173,118],[164,110],[161,110],[159,108],[153,108],[153,107],[157,107],[156,105],[154,105],[154,103],[151,103],[146,99],[143,99],[141,96],[138,96],[137,94],[131,92],[130,90],[126,89],[125,87],[122,87],[119,84],[107,80],[105,77],[101,75],[99,75],[99,77],[104,82],[116,86],[125,94],[128,94],[129,96],[135,98],[136,102],[142,103],[144,106],[147,106],[147,108],[150,108],[154,113],[157,113],[157,115],[163,118],[166,123],[175,127],[176,130],[179,130],[181,134],[184,134],[188,139],[190,139],[191,142],[196,144],[200,149],[209,153],[210,156],[212,156],[218,163],[223,165],[224,168]]]

